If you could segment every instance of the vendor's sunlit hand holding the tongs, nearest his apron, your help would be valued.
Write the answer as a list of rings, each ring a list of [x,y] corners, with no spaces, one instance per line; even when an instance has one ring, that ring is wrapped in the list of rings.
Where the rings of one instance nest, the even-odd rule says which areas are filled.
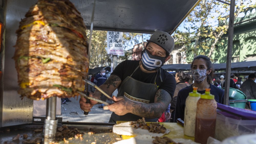
[[[116,101],[116,103],[113,103],[108,106],[104,106],[103,109],[110,110],[114,112],[115,114],[122,116],[127,113],[131,112],[132,109],[132,102],[129,100],[125,100],[123,96],[115,97],[113,96],[113,99]]]

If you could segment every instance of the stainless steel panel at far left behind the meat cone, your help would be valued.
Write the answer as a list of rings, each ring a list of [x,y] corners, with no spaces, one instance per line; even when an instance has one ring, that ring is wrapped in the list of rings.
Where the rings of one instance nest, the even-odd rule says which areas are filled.
[[[33,121],[33,100],[24,98],[21,100],[17,93],[17,72],[15,62],[12,59],[16,43],[15,31],[19,21],[24,18],[29,7],[36,1],[8,0],[6,5],[6,33],[5,33],[5,57],[4,57],[4,91],[0,111],[0,127],[27,124]]]

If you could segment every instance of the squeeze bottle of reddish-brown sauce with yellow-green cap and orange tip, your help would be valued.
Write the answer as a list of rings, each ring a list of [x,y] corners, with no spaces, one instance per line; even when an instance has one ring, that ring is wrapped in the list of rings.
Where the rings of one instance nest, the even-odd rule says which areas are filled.
[[[217,103],[214,95],[210,94],[210,88],[206,88],[205,94],[197,102],[195,142],[206,144],[208,137],[215,135]]]

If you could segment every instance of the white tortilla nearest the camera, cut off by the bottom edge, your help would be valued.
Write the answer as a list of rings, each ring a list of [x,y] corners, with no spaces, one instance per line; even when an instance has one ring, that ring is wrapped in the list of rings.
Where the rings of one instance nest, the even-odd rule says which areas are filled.
[[[154,138],[152,138],[152,136],[150,136],[150,135],[140,135],[140,136],[136,136],[136,137],[133,137],[130,139],[120,140],[113,144],[151,144],[151,143],[153,144],[153,140],[154,140]],[[199,144],[190,139],[176,138],[176,139],[172,139],[172,140],[175,141],[176,143]]]

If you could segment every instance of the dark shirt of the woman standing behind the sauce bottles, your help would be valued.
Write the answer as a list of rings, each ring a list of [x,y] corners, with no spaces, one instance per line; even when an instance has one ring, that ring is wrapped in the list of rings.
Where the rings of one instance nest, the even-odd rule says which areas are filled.
[[[214,99],[216,102],[223,104],[224,103],[224,90],[222,90],[221,88],[210,84],[209,87],[210,93],[212,95],[214,95]],[[177,119],[181,118],[182,120],[184,120],[184,111],[185,111],[185,103],[186,103],[186,99],[188,97],[188,93],[193,92],[193,87],[192,85],[187,86],[183,89],[181,89],[178,93],[177,96],[177,102],[176,102],[176,108],[175,108],[175,114],[174,114],[174,122],[177,123]],[[204,94],[204,91],[197,91],[200,94]]]

